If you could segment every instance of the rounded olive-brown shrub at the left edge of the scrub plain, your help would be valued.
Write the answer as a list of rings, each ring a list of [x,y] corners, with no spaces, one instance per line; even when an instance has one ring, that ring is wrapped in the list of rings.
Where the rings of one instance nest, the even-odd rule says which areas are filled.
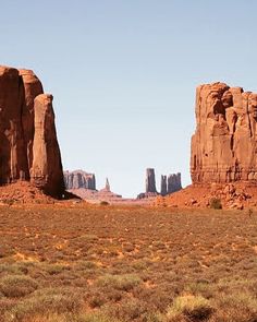
[[[0,279],[0,291],[10,298],[23,297],[37,289],[35,279],[24,275],[7,275]]]

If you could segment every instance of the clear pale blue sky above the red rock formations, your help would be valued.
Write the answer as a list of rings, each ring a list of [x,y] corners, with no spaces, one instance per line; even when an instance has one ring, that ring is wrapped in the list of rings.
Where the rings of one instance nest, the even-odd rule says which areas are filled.
[[[189,178],[195,87],[257,92],[256,0],[1,1],[0,63],[54,96],[64,169],[144,191],[145,169]]]

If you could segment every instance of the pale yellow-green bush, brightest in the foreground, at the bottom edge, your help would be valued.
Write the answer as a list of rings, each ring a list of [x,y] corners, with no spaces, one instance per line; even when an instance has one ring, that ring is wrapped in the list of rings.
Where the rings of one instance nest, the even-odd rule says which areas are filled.
[[[183,315],[193,321],[201,321],[208,319],[213,312],[209,300],[201,296],[185,295],[174,299],[171,307],[168,308],[168,321],[176,321]]]

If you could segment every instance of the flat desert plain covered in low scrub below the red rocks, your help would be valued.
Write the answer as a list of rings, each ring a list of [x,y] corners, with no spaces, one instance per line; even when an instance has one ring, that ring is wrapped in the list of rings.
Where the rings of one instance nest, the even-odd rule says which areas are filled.
[[[257,213],[2,206],[0,321],[257,321]]]

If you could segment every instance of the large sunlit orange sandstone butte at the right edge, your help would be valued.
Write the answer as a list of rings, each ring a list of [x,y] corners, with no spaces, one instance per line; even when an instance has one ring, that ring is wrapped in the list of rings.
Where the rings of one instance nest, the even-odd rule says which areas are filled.
[[[224,83],[196,90],[193,183],[257,182],[257,94]]]

